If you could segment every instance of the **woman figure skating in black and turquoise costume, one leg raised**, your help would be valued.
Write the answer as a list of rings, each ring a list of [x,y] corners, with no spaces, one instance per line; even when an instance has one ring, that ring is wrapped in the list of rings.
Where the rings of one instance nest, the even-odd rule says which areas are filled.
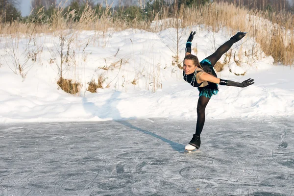
[[[194,87],[198,87],[199,99],[197,104],[197,124],[196,133],[192,140],[185,147],[186,150],[191,151],[200,147],[200,134],[202,132],[205,122],[205,107],[213,95],[219,91],[218,84],[226,86],[247,87],[254,84],[253,79],[247,79],[241,83],[230,80],[223,80],[217,77],[213,67],[221,58],[221,55],[227,52],[234,43],[241,40],[246,33],[238,32],[231,39],[221,45],[217,51],[206,57],[200,63],[198,58],[191,54],[192,40],[196,32],[191,32],[186,43],[186,54],[183,61],[183,78]]]

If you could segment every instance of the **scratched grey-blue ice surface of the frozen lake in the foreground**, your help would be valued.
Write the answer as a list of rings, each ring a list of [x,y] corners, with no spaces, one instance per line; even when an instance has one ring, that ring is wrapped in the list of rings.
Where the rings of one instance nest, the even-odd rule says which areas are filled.
[[[294,119],[0,124],[0,196],[294,196]]]

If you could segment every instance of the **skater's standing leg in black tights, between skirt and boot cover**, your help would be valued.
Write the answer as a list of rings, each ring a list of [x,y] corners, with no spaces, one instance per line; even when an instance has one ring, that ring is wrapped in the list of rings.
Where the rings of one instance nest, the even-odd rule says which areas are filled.
[[[200,135],[205,123],[205,108],[210,98],[199,97],[197,104],[197,124],[196,124],[196,135]]]

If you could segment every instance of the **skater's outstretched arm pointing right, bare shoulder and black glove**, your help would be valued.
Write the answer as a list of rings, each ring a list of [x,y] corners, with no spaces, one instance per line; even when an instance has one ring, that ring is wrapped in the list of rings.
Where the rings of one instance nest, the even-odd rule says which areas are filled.
[[[202,75],[200,75],[199,82],[201,83],[204,81],[208,81],[208,82],[212,82],[212,83],[216,83],[216,84],[220,84],[220,85],[225,85],[225,86],[237,86],[237,87],[241,87],[241,88],[244,88],[244,87],[247,87],[249,85],[254,84],[254,79],[251,79],[251,78],[249,78],[243,82],[234,82],[231,80],[223,80],[223,79],[217,78],[217,77],[210,75],[208,73],[203,73]]]

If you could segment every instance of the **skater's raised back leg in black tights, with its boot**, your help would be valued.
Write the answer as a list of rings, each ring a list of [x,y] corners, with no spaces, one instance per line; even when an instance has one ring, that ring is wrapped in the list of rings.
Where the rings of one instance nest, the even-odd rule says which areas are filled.
[[[227,41],[223,45],[221,45],[217,49],[217,51],[215,51],[212,55],[206,57],[205,59],[210,60],[211,65],[215,66],[217,61],[221,58],[222,54],[226,53],[233,46],[234,43],[241,40],[245,35],[246,35],[246,33],[244,33],[244,32],[238,32],[236,35],[231,37],[231,39],[229,41]]]

